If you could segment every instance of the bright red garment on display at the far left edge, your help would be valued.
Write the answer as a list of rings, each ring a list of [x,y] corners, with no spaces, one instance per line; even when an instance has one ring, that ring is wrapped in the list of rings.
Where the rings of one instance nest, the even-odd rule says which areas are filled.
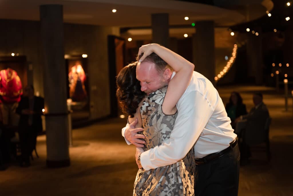
[[[19,102],[23,94],[21,80],[15,70],[7,68],[0,71],[0,102]]]

